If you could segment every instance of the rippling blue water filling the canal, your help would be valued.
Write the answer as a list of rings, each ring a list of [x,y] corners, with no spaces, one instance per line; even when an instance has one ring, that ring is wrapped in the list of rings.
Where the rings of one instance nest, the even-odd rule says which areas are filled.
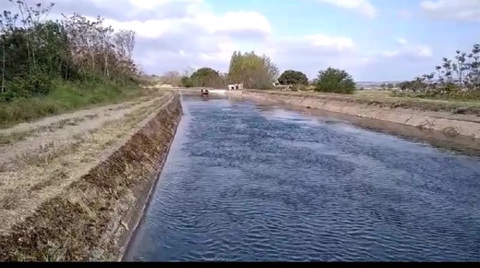
[[[285,107],[183,96],[125,260],[480,260],[480,158]]]

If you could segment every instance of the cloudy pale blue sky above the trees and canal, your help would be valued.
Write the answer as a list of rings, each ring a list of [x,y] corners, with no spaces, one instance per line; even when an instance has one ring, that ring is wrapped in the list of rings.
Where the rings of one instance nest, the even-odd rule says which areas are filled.
[[[51,1],[51,18],[100,15],[135,31],[136,62],[158,75],[227,72],[234,51],[255,51],[310,79],[331,66],[356,81],[401,81],[480,43],[480,0],[27,0]]]

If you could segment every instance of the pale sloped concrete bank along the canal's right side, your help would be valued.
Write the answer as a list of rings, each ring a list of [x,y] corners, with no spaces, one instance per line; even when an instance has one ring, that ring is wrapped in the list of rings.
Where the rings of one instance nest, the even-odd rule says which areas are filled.
[[[384,120],[402,125],[410,125],[421,129],[443,132],[449,136],[468,136],[480,139],[480,117],[467,115],[449,115],[445,112],[419,111],[414,109],[379,107],[355,102],[339,100],[323,100],[321,98],[301,97],[294,95],[275,95],[227,90],[227,95],[245,97],[253,100],[274,101],[285,104],[322,109],[351,116]]]

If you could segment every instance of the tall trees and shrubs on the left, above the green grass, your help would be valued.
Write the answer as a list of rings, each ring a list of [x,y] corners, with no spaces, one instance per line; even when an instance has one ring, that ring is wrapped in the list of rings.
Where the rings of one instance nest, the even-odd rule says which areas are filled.
[[[8,0],[17,10],[0,14],[0,100],[46,95],[52,81],[137,82],[132,60],[134,31],[114,31],[104,19],[74,14],[48,19],[54,3],[29,6]]]

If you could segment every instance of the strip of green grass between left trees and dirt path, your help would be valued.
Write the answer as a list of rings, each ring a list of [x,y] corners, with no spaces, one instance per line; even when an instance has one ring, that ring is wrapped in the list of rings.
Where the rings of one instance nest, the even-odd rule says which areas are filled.
[[[75,109],[133,100],[142,95],[145,90],[138,86],[54,81],[54,89],[48,95],[0,102],[0,128]]]

